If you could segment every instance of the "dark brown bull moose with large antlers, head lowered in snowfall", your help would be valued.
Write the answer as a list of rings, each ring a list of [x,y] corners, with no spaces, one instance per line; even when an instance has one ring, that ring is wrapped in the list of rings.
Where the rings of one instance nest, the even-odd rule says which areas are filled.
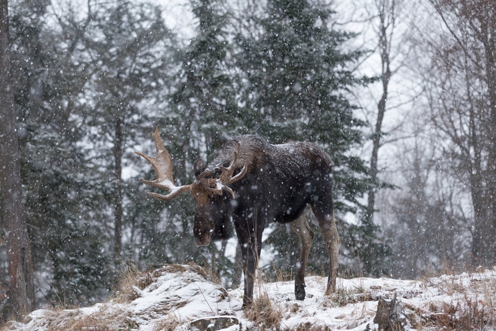
[[[271,145],[258,136],[240,136],[225,143],[219,156],[207,167],[201,159],[195,162],[195,182],[176,186],[172,158],[162,143],[158,127],[152,137],[157,155],[147,156],[138,151],[136,154],[151,163],[157,179],[142,182],[166,188],[167,195],[148,193],[165,201],[186,191],[193,196],[197,201],[195,245],[208,245],[212,239],[227,236],[227,229],[234,223],[243,256],[243,308],[253,302],[262,232],[273,221],[288,223],[301,241],[295,297],[305,299],[305,268],[314,236],[304,215],[307,205],[312,206],[329,253],[325,295],[335,290],[340,238],[334,222],[332,161],[325,151],[312,143]]]

